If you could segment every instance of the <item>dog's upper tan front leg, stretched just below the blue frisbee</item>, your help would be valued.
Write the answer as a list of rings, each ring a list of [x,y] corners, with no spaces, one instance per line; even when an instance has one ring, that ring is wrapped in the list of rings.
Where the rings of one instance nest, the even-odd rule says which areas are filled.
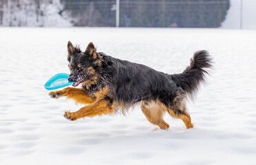
[[[76,103],[92,104],[96,99],[87,96],[85,91],[81,88],[67,87],[61,91],[52,91],[49,93],[51,98],[60,98],[67,96],[68,99],[73,99]]]

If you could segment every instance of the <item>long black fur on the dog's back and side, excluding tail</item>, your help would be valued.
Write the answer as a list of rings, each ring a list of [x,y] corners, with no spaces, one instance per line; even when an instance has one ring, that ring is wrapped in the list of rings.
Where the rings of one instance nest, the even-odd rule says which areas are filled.
[[[115,100],[125,104],[135,104],[141,100],[161,100],[168,107],[175,97],[177,85],[162,72],[145,65],[121,61],[111,56],[105,56],[105,61],[111,61],[110,86],[114,87]]]

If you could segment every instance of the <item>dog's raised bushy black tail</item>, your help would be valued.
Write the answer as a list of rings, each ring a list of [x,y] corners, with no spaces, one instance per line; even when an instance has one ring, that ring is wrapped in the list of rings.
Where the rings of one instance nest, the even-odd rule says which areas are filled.
[[[182,74],[173,74],[171,79],[182,87],[186,94],[191,98],[195,97],[196,91],[198,91],[200,84],[205,82],[205,75],[209,74],[206,68],[212,67],[212,58],[206,50],[195,52],[191,63]]]

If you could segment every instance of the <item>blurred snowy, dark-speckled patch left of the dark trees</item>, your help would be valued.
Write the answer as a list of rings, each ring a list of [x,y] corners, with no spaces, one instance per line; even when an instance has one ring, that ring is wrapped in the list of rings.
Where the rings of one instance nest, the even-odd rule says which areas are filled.
[[[0,25],[70,27],[72,26],[71,19],[68,12],[63,12],[63,8],[60,0],[8,1],[3,4],[3,17],[0,17]]]

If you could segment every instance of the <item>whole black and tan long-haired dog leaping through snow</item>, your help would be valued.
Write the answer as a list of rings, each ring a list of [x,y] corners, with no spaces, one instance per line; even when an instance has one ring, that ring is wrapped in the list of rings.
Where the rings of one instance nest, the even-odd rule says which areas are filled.
[[[96,52],[93,43],[89,43],[85,52],[67,43],[67,61],[70,63],[68,80],[74,87],[61,91],[52,91],[52,98],[66,96],[77,103],[87,104],[75,112],[65,111],[68,120],[125,112],[140,105],[147,120],[160,129],[168,129],[163,120],[168,112],[174,118],[181,119],[186,129],[193,128],[186,100],[193,100],[195,92],[204,82],[206,68],[211,68],[211,57],[205,50],[195,52],[189,67],[182,74],[164,74],[155,69],[122,61],[102,52]]]

